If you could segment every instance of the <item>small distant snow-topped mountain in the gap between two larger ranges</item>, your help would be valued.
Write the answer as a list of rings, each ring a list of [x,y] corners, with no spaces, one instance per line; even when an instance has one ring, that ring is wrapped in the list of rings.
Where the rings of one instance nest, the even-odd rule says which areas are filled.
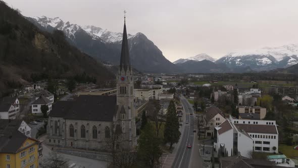
[[[221,73],[231,71],[225,64],[216,64],[209,60],[188,60],[183,63],[177,63],[176,65],[185,73]]]

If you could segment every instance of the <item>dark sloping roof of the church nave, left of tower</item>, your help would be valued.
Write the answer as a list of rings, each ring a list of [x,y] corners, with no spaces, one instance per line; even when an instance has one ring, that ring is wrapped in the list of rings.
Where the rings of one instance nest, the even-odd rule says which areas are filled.
[[[117,111],[116,96],[81,95],[75,101],[57,102],[49,116],[65,119],[113,121],[115,111]]]

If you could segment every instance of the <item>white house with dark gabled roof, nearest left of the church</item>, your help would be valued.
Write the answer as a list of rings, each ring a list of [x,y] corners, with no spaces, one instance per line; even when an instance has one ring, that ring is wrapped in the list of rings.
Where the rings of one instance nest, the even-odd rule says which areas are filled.
[[[52,104],[53,103],[51,100],[41,95],[31,104],[32,114],[43,115],[40,109],[42,105],[47,105],[48,107],[47,114],[48,114],[52,110]]]

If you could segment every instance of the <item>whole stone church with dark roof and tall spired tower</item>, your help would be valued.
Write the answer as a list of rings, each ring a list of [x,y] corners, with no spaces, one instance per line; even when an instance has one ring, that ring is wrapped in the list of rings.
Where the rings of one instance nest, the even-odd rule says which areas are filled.
[[[112,134],[121,134],[125,146],[136,146],[133,99],[133,76],[124,17],[117,96],[81,95],[75,101],[57,102],[48,116],[46,144],[102,150]]]

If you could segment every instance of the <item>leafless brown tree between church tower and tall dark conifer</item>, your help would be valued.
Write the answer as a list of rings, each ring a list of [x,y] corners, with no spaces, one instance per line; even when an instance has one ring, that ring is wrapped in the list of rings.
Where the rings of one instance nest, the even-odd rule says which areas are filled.
[[[165,116],[160,113],[160,104],[157,100],[151,100],[147,106],[147,109],[149,119],[154,122],[156,134],[157,137],[159,137],[159,131],[165,122]]]

